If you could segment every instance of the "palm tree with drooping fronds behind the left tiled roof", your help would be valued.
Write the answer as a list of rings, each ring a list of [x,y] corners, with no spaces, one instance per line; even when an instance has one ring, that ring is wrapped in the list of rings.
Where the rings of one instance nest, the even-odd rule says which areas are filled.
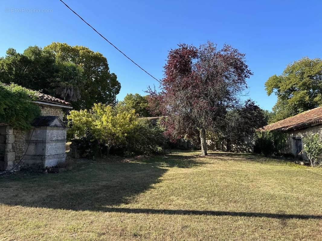
[[[84,69],[74,63],[59,64],[59,72],[51,83],[56,87],[56,94],[68,102],[80,99],[81,88],[84,85],[83,72]]]

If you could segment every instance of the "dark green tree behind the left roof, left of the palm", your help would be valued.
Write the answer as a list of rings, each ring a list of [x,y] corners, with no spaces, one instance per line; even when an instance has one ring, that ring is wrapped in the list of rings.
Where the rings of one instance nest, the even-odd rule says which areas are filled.
[[[1,82],[43,90],[45,94],[54,94],[50,80],[56,71],[54,54],[37,46],[28,47],[22,54],[10,48],[5,58],[0,58]]]

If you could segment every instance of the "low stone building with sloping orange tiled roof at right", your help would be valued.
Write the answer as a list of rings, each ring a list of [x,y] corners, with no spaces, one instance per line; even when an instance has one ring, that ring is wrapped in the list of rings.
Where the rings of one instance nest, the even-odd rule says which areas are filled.
[[[322,137],[322,106],[302,112],[296,116],[277,121],[263,127],[263,130],[280,131],[286,134],[285,154],[292,154],[300,159],[307,157],[300,152],[305,144],[303,138],[318,133]]]

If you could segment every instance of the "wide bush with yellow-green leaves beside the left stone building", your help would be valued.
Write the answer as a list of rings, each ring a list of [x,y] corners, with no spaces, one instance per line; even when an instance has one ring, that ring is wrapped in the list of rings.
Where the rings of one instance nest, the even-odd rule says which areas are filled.
[[[78,137],[73,145],[82,151],[81,156],[162,154],[167,147],[163,130],[138,119],[134,110],[95,104],[90,111],[71,111],[67,118]]]

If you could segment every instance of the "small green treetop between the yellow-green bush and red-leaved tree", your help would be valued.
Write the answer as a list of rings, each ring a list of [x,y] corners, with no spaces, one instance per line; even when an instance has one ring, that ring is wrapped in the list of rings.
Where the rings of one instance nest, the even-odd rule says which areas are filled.
[[[148,111],[147,96],[141,96],[139,94],[127,94],[124,97],[124,101],[118,102],[120,108],[124,110],[135,110],[140,117],[150,117]]]

